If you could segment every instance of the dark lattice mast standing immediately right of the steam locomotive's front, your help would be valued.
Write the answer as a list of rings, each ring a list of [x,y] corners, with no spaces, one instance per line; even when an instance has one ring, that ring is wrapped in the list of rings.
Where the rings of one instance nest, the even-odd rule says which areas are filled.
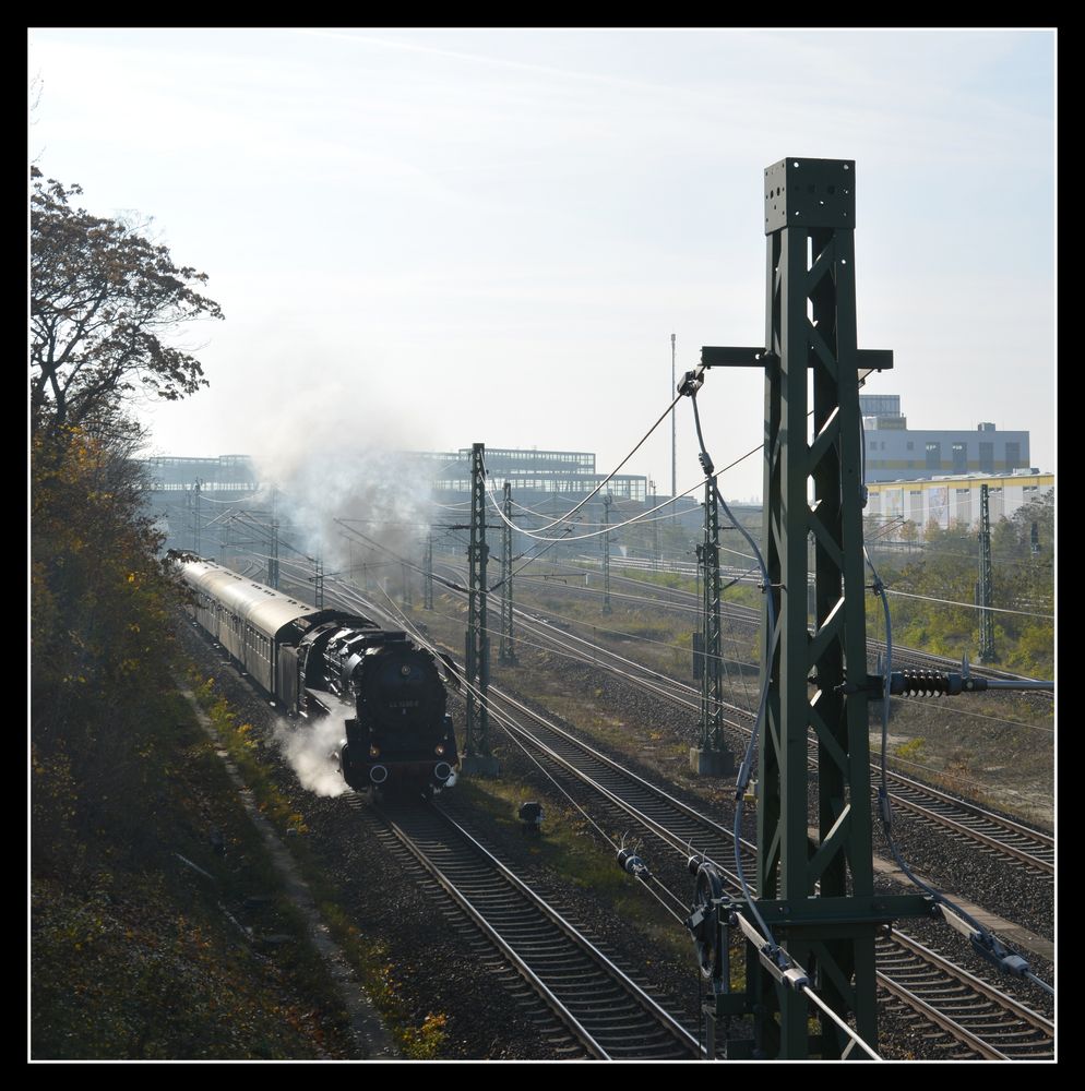
[[[498,763],[490,753],[489,685],[490,637],[486,631],[486,471],[485,444],[476,443],[470,457],[470,544],[467,547],[467,667],[465,672],[467,731],[461,768],[464,772],[497,776]]]

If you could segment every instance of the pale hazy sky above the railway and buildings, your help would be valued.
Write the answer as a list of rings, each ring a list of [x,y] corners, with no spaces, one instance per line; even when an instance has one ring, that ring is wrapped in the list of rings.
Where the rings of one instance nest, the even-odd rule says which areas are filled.
[[[538,446],[610,469],[764,335],[763,168],[856,160],[859,345],[915,428],[1054,468],[1053,32],[29,32],[29,154],[211,276],[158,453]],[[699,398],[718,466],[762,383]],[[670,430],[627,467],[669,491]],[[690,407],[679,489],[700,478]],[[724,494],[761,494],[748,459]]]

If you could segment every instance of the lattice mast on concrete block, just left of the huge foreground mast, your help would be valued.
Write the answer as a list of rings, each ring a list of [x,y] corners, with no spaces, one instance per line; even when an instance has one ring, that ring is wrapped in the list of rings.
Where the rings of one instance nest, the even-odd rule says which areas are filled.
[[[698,546],[701,586],[701,733],[690,748],[690,769],[701,776],[730,777],[735,758],[724,745],[723,626],[719,606],[719,505],[715,481],[704,483],[704,542]]]

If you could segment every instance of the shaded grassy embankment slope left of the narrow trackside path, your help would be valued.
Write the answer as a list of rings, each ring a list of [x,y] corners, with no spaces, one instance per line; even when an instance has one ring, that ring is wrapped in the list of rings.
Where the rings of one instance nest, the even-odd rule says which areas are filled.
[[[189,704],[163,693],[110,728],[108,777],[35,757],[32,1055],[355,1055]]]

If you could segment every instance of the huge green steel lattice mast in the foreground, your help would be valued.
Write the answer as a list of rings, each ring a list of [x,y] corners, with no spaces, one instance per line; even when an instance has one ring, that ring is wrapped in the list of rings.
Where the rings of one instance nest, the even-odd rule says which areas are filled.
[[[751,367],[765,376],[764,625],[766,712],[758,739],[758,865],[747,899],[720,911],[746,932],[746,992],[713,978],[710,1024],[752,1014],[754,1039],[729,1056],[863,1056],[799,985],[809,982],[877,1047],[874,937],[898,916],[926,915],[919,896],[874,896],[867,703],[859,372],[892,368],[893,353],[856,338],[855,163],[788,158],[764,171],[765,344],[701,350],[705,368]],[[812,404],[808,384],[812,379]],[[808,442],[812,411],[813,439]],[[813,481],[814,497],[808,499]],[[813,533],[814,623],[808,624]],[[770,614],[773,624],[768,624]],[[808,767],[808,735],[818,768]],[[809,832],[810,807],[816,831]],[[711,886],[710,871],[702,877]],[[751,935],[750,933],[754,933]],[[759,938],[755,938],[758,936]],[[778,946],[776,946],[778,945]],[[786,951],[788,959],[783,952]],[[820,1031],[811,1033],[816,1016]],[[741,1050],[748,1052],[740,1053]]]

